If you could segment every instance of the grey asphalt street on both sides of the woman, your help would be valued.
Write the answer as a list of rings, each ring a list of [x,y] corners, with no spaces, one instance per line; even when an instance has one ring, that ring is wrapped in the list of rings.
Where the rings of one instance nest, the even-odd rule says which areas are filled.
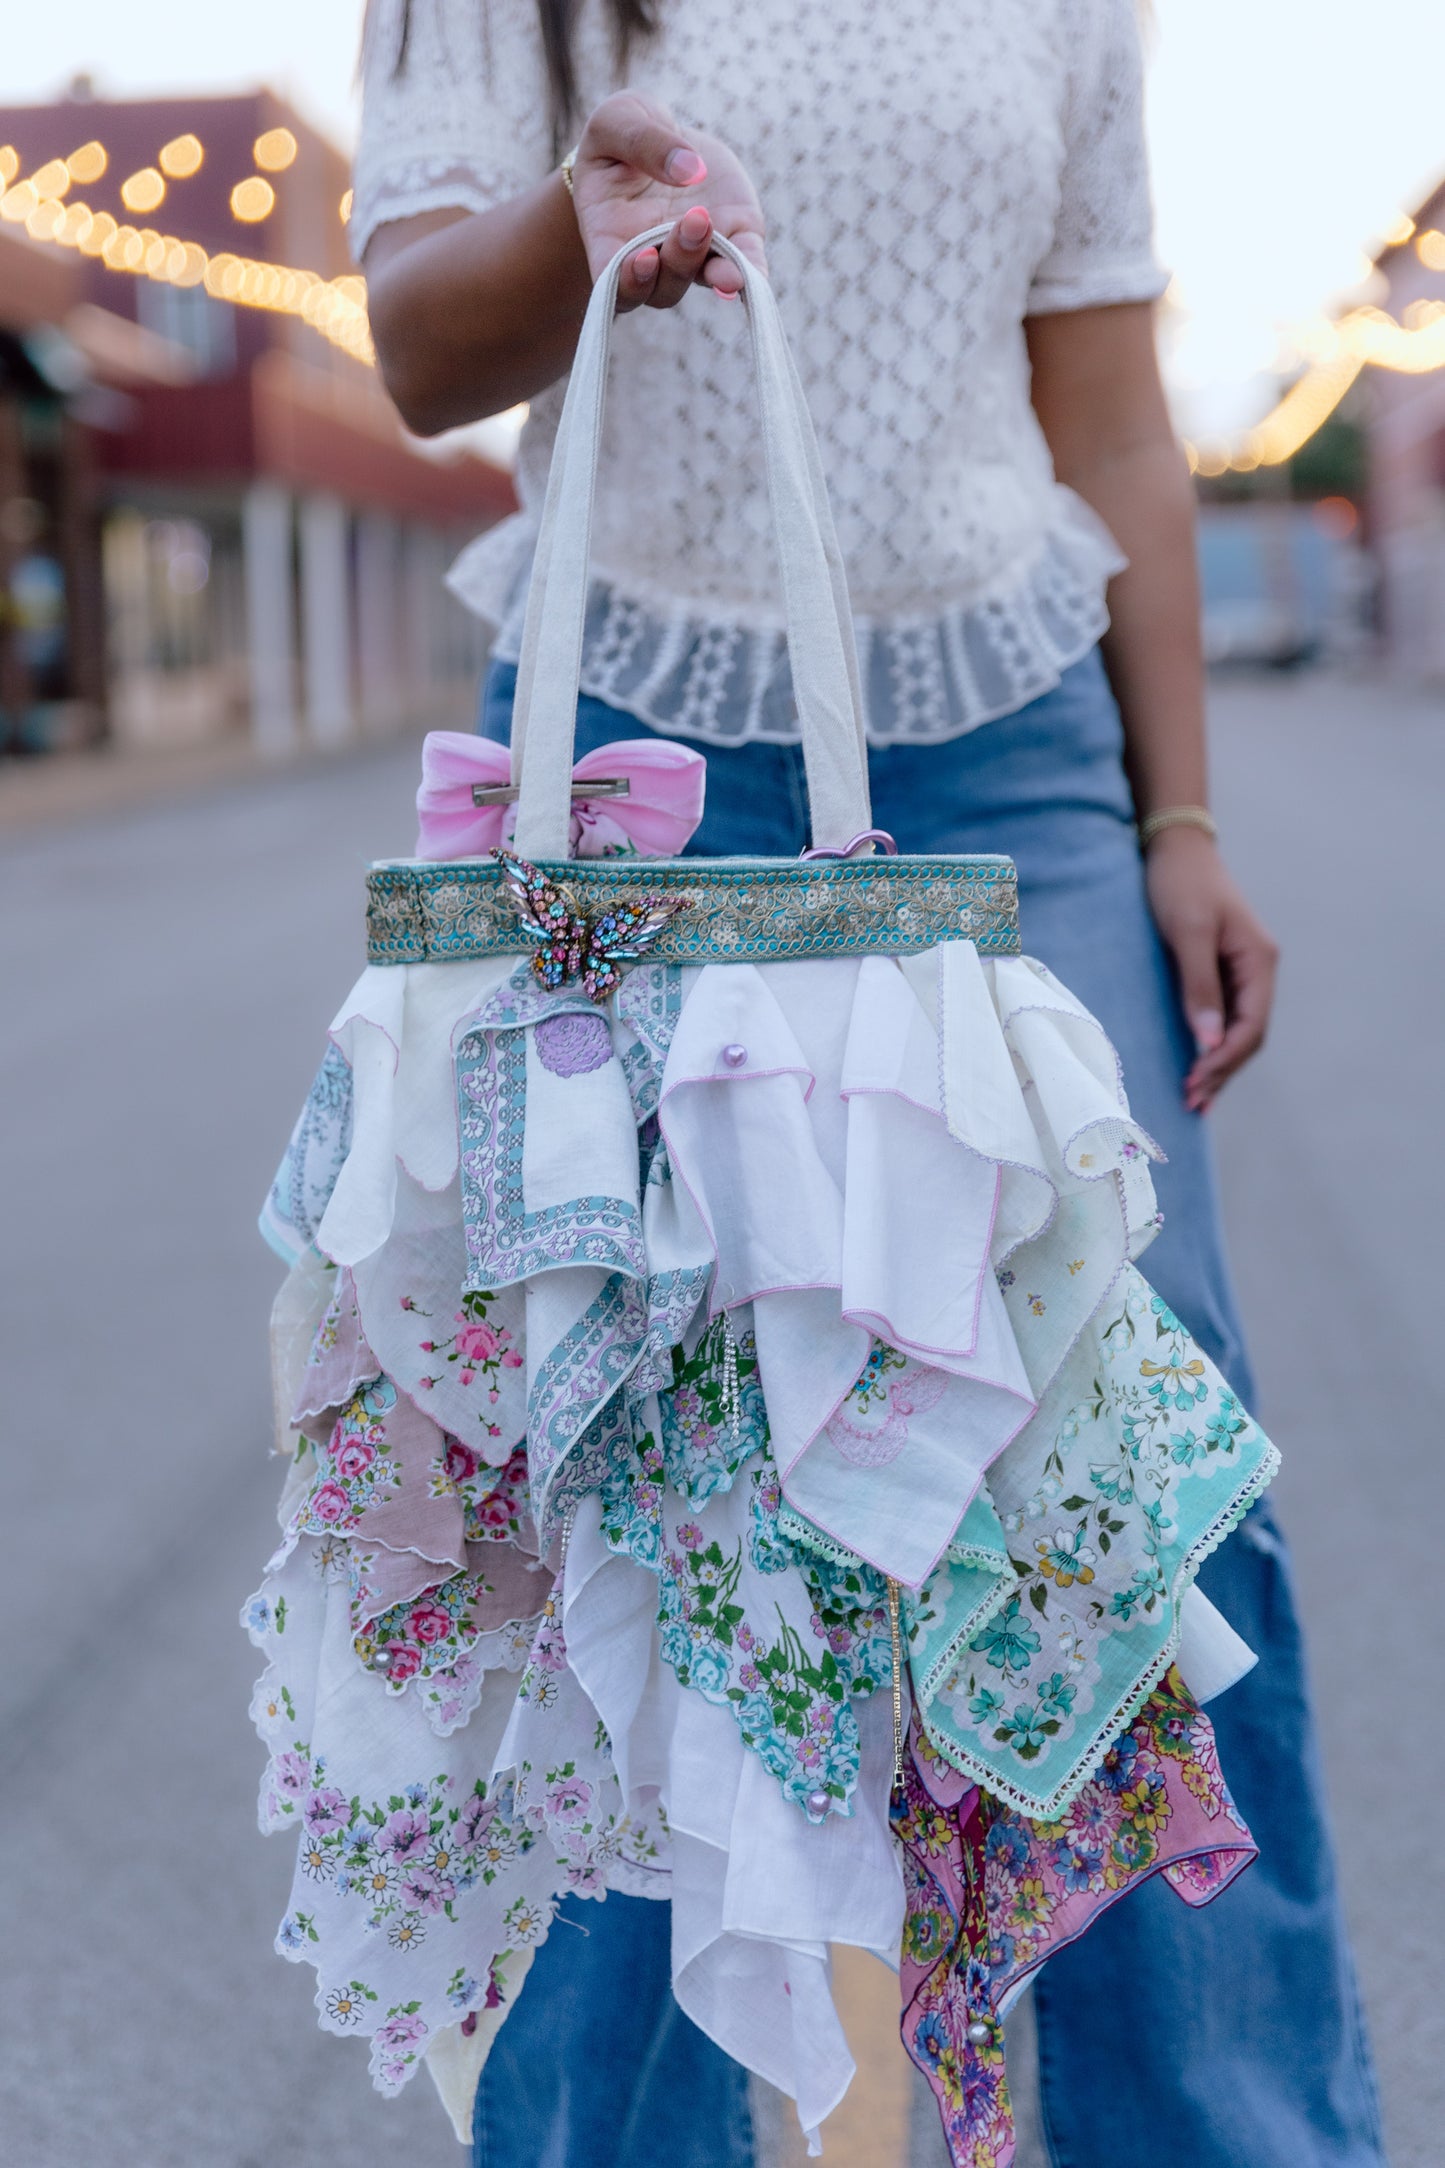
[[[1237,1268],[1393,2159],[1436,2168],[1445,702],[1235,685],[1215,737],[1231,856],[1287,947],[1274,1043],[1215,1117]],[[0,846],[17,2168],[464,2157],[427,2083],[377,2101],[316,2034],[310,1969],[271,1956],[288,1858],[253,1830],[234,1626],[277,1489],[253,1216],[360,963],[362,865],[409,848],[414,772],[392,748]],[[897,2131],[882,2057],[871,2077]],[[830,2157],[901,2168],[856,2131]]]

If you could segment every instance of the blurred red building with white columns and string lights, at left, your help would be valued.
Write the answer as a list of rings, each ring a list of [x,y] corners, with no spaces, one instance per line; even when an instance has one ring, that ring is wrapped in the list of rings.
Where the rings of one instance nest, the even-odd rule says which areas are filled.
[[[511,509],[370,366],[347,163],[271,93],[0,106],[0,741],[470,718]]]

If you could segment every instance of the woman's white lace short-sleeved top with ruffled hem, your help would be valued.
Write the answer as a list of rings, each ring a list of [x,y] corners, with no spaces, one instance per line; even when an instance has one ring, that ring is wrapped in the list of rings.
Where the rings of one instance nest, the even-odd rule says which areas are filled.
[[[1122,564],[1055,479],[1023,319],[1153,299],[1135,0],[663,0],[630,87],[734,145],[817,423],[869,735],[1012,713],[1107,622]],[[353,245],[483,210],[552,165],[535,0],[375,0]],[[581,0],[581,104],[617,87]],[[563,386],[533,399],[522,512],[453,568],[516,657]],[[708,293],[617,327],[583,687],[661,731],[797,737],[747,332]]]

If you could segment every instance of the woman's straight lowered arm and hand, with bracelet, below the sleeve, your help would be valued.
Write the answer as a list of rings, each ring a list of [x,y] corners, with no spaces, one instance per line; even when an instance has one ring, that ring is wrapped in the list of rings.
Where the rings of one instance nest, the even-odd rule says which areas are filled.
[[[1033,408],[1053,466],[1098,512],[1129,570],[1109,585],[1105,663],[1124,718],[1140,820],[1207,804],[1194,492],[1174,440],[1148,304],[1027,321]],[[1198,1058],[1187,1106],[1205,1112],[1263,1043],[1276,947],[1200,828],[1166,828],[1146,854],[1148,900],[1174,963]]]

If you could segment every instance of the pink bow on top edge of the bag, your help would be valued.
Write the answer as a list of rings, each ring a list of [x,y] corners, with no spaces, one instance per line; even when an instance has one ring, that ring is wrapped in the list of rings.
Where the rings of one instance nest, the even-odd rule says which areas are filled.
[[[702,820],[706,761],[665,737],[624,737],[598,746],[572,770],[574,783],[624,776],[626,798],[572,800],[574,859],[672,859]],[[511,843],[518,809],[472,804],[472,787],[511,783],[511,752],[468,731],[429,731],[416,793],[418,859],[479,859]]]

